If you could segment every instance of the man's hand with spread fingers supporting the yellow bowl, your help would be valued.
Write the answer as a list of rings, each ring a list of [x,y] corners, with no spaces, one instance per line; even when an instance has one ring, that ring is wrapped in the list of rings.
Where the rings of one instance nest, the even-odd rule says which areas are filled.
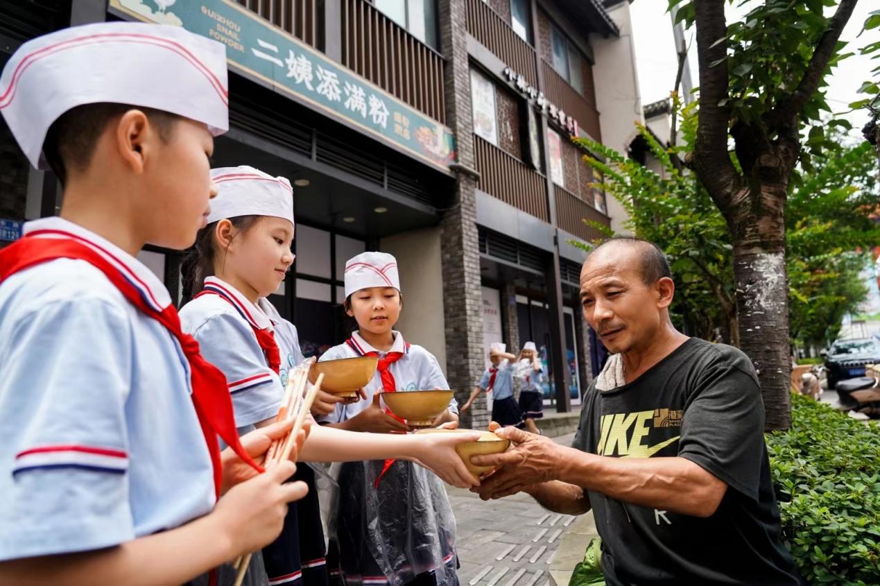
[[[515,447],[502,454],[474,456],[471,462],[480,466],[496,466],[497,470],[484,478],[480,487],[473,488],[484,501],[517,494],[526,487],[554,480],[559,466],[559,445],[545,436],[535,436],[517,428],[498,429],[493,421],[489,430],[509,439]]]

